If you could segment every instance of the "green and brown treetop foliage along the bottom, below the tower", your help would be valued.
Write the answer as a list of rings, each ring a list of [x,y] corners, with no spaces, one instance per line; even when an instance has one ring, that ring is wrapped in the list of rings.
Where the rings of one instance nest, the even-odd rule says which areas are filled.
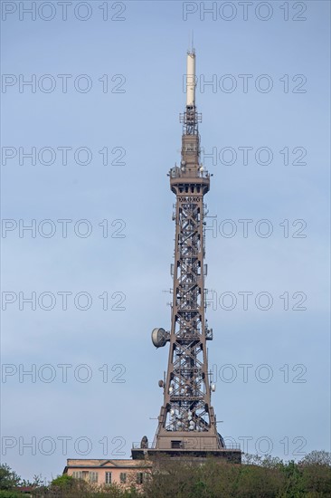
[[[26,483],[6,464],[0,465],[0,498],[24,496],[19,486],[33,486],[39,498],[319,498],[331,496],[331,454],[313,451],[298,463],[267,455],[243,455],[243,464],[217,458],[159,458],[144,483],[90,484],[59,475],[48,485],[41,477]]]

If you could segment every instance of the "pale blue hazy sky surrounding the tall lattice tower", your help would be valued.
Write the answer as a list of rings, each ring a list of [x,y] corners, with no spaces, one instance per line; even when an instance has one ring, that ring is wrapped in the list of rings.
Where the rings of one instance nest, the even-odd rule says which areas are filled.
[[[4,8],[6,3],[2,4]],[[296,8],[293,2],[285,3],[288,21],[279,8],[283,2],[269,3],[268,21],[257,18],[256,2],[247,21],[236,2],[231,3],[237,9],[232,21],[220,16],[222,2],[217,3],[214,21],[212,14],[201,20],[199,10],[184,21],[182,2],[138,1],[124,3],[125,12],[118,14],[124,21],[103,21],[102,4],[88,3],[91,17],[85,22],[75,18],[69,7],[68,19],[62,21],[56,2],[49,22],[38,13],[35,21],[27,14],[20,21],[17,7],[2,25],[2,72],[17,78],[23,74],[26,80],[35,74],[37,81],[51,74],[56,82],[51,93],[38,87],[35,93],[27,88],[21,93],[18,84],[5,89],[1,95],[3,147],[37,151],[86,147],[93,157],[85,166],[75,163],[72,153],[67,165],[61,164],[60,153],[48,166],[38,160],[33,166],[29,159],[20,165],[18,155],[4,164],[3,157],[2,217],[17,224],[19,219],[26,224],[35,219],[37,225],[51,219],[56,226],[51,238],[38,234],[33,238],[28,233],[20,238],[18,228],[2,238],[3,292],[36,292],[37,296],[52,292],[58,299],[51,311],[38,304],[36,311],[28,304],[20,311],[18,298],[3,311],[3,362],[13,364],[17,374],[6,382],[3,378],[1,429],[2,436],[13,436],[17,444],[6,450],[2,460],[25,478],[33,474],[51,478],[62,472],[66,458],[83,457],[74,448],[80,436],[90,439],[91,458],[104,456],[99,441],[106,436],[108,455],[113,458],[124,456],[116,454],[119,444],[114,437],[125,439],[126,457],[132,441],[145,434],[153,439],[153,418],[163,400],[157,380],[163,377],[168,351],[154,349],[150,331],[170,326],[166,302],[171,296],[162,291],[172,285],[175,196],[166,173],[180,158],[178,114],[184,110],[182,79],[193,29],[202,146],[206,153],[213,148],[217,153],[222,148],[238,153],[231,166],[204,161],[213,173],[205,198],[209,215],[217,216],[218,227],[222,228],[222,220],[231,219],[238,228],[232,238],[220,231],[213,237],[210,231],[206,240],[207,287],[218,297],[233,292],[238,299],[232,311],[220,305],[207,310],[214,332],[209,364],[219,374],[212,400],[217,420],[222,420],[219,430],[237,442],[251,437],[250,453],[255,453],[259,441],[265,451],[269,440],[271,453],[285,459],[299,458],[301,444],[304,452],[329,450],[329,3],[302,2]],[[109,15],[119,12],[121,3],[115,4],[109,2]],[[304,14],[299,13],[300,5],[307,6]],[[259,12],[263,16],[267,11]],[[294,21],[294,15],[307,20]],[[61,91],[58,74],[72,75],[67,93]],[[72,85],[80,74],[92,81],[88,93]],[[110,88],[120,81],[111,77],[123,75],[125,92],[104,93],[99,81],[104,74],[109,75]],[[232,93],[222,91],[226,74],[238,85]],[[252,75],[247,93],[242,91],[242,74]],[[255,88],[263,74],[273,84],[268,93]],[[284,75],[288,75],[288,92]],[[300,87],[306,92],[293,92],[303,81],[301,77],[292,81],[296,75],[306,77]],[[211,86],[202,91],[203,78],[216,79],[215,92]],[[104,147],[125,148],[126,165],[103,166],[98,151]],[[246,166],[240,147],[253,148]],[[272,150],[269,165],[254,160],[261,147]],[[284,153],[279,153],[285,147],[289,148],[288,166]],[[307,150],[302,159],[306,166],[292,164],[299,157],[298,150],[293,155],[294,148]],[[110,156],[113,160],[116,154]],[[61,237],[56,221],[64,218],[73,220],[67,238]],[[80,219],[92,226],[88,238],[72,229]],[[111,222],[124,220],[126,236],[104,238],[99,226],[104,219],[109,220],[110,234],[119,228]],[[242,236],[240,219],[253,220],[247,238]],[[260,219],[270,220],[269,238],[254,231]],[[298,219],[307,224],[302,232],[306,238],[291,236],[301,226],[292,226]],[[289,223],[288,238],[284,226],[279,226],[284,220]],[[253,292],[248,311],[242,310],[238,294],[245,291]],[[69,300],[68,310],[62,311],[57,292],[88,292],[90,310],[77,310]],[[125,293],[126,310],[103,311],[98,297],[103,292],[109,292],[110,305],[118,299],[111,299],[114,292]],[[260,311],[254,304],[260,292],[273,297],[269,311]],[[284,292],[289,295],[288,311],[284,311],[285,298],[279,298]],[[306,311],[291,309],[299,300],[292,297],[294,292],[307,295]],[[56,378],[46,383],[37,377],[33,383],[25,377],[20,383],[20,364],[25,369],[51,364]],[[67,383],[61,382],[59,364],[73,366]],[[81,364],[92,371],[88,383],[72,374]],[[110,379],[120,372],[111,371],[114,365],[123,365],[126,382],[102,382],[99,368],[104,364],[109,365]],[[233,382],[225,381],[231,371],[222,369],[226,364],[237,372]],[[248,382],[243,381],[242,364],[252,365]],[[269,383],[255,377],[256,372],[258,378],[259,372],[266,374],[266,369],[259,370],[264,364],[272,373]],[[287,369],[288,382],[284,382]],[[300,373],[297,380],[306,382],[293,382]],[[23,448],[20,455],[19,438],[22,446],[33,436],[36,454]],[[62,455],[57,439],[61,436],[72,438],[67,455]],[[43,437],[57,443],[52,455],[43,455],[47,443],[42,451],[38,448]]]

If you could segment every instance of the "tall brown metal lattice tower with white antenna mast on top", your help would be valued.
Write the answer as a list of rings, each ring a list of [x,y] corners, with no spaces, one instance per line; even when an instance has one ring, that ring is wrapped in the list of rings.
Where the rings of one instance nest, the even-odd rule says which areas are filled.
[[[187,53],[186,108],[180,120],[183,123],[181,164],[169,172],[170,188],[176,196],[171,330],[152,332],[156,348],[170,343],[166,378],[159,381],[164,389],[164,403],[152,447],[148,448],[144,436],[140,449],[133,449],[132,456],[212,454],[240,462],[241,451],[226,448],[218,434],[211,405],[214,385],[208,374],[206,341],[213,339],[213,330],[208,328],[204,317],[207,266],[203,263],[203,196],[209,191],[210,175],[200,162],[201,115],[195,107],[194,51]]]

